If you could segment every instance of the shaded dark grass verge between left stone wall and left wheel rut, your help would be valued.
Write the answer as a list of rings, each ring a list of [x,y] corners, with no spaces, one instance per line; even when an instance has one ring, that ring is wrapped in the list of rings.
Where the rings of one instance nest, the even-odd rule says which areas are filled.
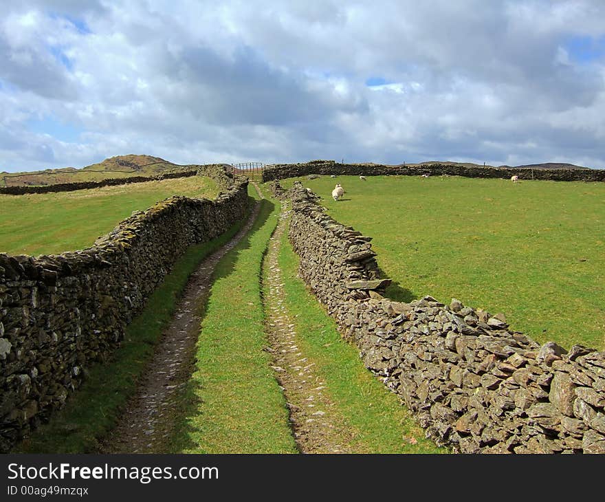
[[[122,346],[115,351],[113,359],[105,364],[95,364],[80,389],[69,397],[65,408],[56,412],[48,424],[35,430],[13,452],[96,451],[98,439],[113,428],[122,406],[135,391],[137,379],[153,355],[162,331],[170,323],[188,277],[204,257],[236,234],[245,219],[212,241],[190,246],[177,259],[172,272],[153,292],[144,311],[127,327]]]

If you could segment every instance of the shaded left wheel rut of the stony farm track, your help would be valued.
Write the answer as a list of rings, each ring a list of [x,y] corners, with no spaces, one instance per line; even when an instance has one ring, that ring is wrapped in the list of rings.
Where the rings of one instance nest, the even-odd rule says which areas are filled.
[[[259,208],[257,203],[239,232],[191,274],[173,320],[162,334],[135,395],[126,404],[118,424],[102,441],[100,452],[165,453],[170,449],[166,441],[173,431],[173,404],[192,373],[201,310],[210,294],[214,268],[250,231]]]

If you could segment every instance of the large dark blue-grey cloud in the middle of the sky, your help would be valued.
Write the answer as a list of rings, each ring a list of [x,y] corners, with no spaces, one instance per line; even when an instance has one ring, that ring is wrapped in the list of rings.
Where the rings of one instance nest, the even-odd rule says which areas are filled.
[[[335,111],[367,109],[364,100],[339,96],[329,83],[309,89],[298,72],[272,68],[250,47],[230,61],[208,47],[184,47],[169,67],[187,87],[181,105],[214,123],[321,122]]]

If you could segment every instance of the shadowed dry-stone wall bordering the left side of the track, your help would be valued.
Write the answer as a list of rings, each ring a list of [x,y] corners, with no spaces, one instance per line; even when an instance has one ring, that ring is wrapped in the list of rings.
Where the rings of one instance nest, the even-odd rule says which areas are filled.
[[[189,245],[228,230],[249,204],[237,177],[214,201],[175,196],[135,211],[85,250],[0,254],[0,452],[109,356]]]

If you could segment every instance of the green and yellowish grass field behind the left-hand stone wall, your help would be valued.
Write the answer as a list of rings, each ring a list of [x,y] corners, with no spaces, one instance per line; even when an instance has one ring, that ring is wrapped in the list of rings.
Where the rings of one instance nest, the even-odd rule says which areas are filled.
[[[133,210],[145,210],[172,195],[213,199],[208,177],[104,186],[89,190],[0,195],[0,252],[58,254],[87,248]]]

